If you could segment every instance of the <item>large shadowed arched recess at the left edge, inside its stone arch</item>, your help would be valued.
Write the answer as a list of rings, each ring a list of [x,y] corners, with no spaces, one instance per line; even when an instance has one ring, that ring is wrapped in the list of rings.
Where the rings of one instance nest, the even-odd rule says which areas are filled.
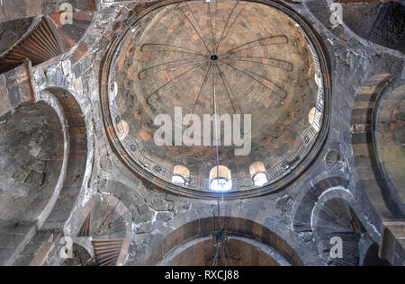
[[[49,215],[63,182],[67,138],[58,110],[22,105],[0,123],[0,260],[10,265]]]

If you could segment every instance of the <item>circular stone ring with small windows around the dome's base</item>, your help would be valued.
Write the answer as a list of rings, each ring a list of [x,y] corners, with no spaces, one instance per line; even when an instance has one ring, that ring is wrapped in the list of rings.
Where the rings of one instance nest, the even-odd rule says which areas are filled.
[[[245,3],[242,1],[238,2]],[[214,199],[219,193],[222,194],[222,192],[210,191],[210,180],[208,178],[202,178],[199,175],[193,175],[193,171],[191,176],[184,177],[184,184],[172,182],[174,173],[168,166],[166,166],[166,164],[164,164],[165,161],[163,161],[163,163],[157,162],[157,158],[150,156],[150,153],[148,154],[144,151],[145,146],[139,145],[139,141],[141,140],[136,140],[137,138],[130,138],[129,128],[132,126],[132,124],[130,123],[129,127],[128,122],[121,118],[121,110],[118,107],[118,100],[115,98],[119,93],[118,85],[121,85],[117,85],[116,83],[115,67],[120,58],[122,49],[125,49],[125,43],[127,42],[126,40],[130,36],[130,33],[133,33],[136,30],[134,27],[137,27],[138,24],[142,22],[142,19],[147,17],[149,13],[156,12],[159,9],[164,9],[167,7],[169,8],[172,4],[181,3],[185,2],[161,2],[148,7],[145,11],[139,13],[137,17],[130,19],[128,21],[130,22],[130,28],[121,33],[121,35],[116,37],[116,40],[112,42],[110,49],[108,50],[106,60],[104,61],[102,73],[102,103],[104,122],[107,133],[111,138],[113,148],[116,149],[124,164],[126,164],[134,173],[137,173],[140,178],[146,179],[148,182],[152,182],[156,187],[163,188],[166,191],[171,191],[175,194],[199,199]],[[238,176],[238,174],[233,175],[232,173],[232,175],[236,176],[236,178],[232,180],[232,190],[225,193],[225,200],[257,197],[272,191],[283,190],[290,182],[293,182],[294,179],[296,179],[306,170],[308,165],[320,150],[320,146],[323,144],[329,129],[329,68],[327,67],[327,62],[323,55],[320,42],[317,40],[318,37],[313,33],[311,27],[308,26],[308,24],[290,8],[270,1],[246,2],[246,4],[251,3],[266,4],[276,11],[283,13],[290,21],[295,22],[292,29],[296,29],[302,34],[303,39],[311,50],[311,57],[314,60],[313,67],[316,73],[315,81],[317,81],[317,84],[320,86],[320,93],[318,95],[319,102],[317,102],[317,105],[314,108],[315,111],[312,113],[311,120],[315,120],[314,116],[316,117],[317,111],[321,111],[322,116],[321,119],[319,118],[318,120],[318,125],[310,125],[309,132],[300,135],[300,144],[297,145],[295,149],[300,149],[300,147],[303,146],[307,147],[306,151],[300,153],[302,155],[287,155],[284,160],[278,161],[274,167],[268,169],[268,182],[261,187],[257,187],[253,178],[248,174],[246,176]],[[142,25],[144,24],[145,23]],[[199,30],[197,29],[196,31]],[[198,33],[199,32],[196,32],[196,38],[198,38]],[[141,49],[143,50],[141,51],[148,52],[148,49],[144,49],[144,46],[142,46]],[[133,49],[135,49],[135,47],[133,47]],[[244,57],[246,57],[246,54],[244,54]],[[208,57],[204,55],[204,58],[209,62],[214,62],[217,64],[222,59],[222,56],[218,55],[218,53],[210,53]],[[144,67],[144,69],[148,69],[148,66]],[[139,72],[139,80],[141,80],[140,78],[145,77]],[[297,105],[302,103],[302,99],[297,100],[293,100],[293,109],[297,109]],[[137,114],[135,113],[135,117],[136,115]],[[260,146],[272,144],[272,141],[281,137],[282,134],[280,133],[283,133],[285,129],[293,124],[295,115],[296,114],[289,114],[287,116],[289,123],[284,123],[283,127],[280,123],[276,124],[272,135],[266,139],[262,138],[260,141]],[[146,125],[142,125],[142,127],[143,129],[148,129],[148,126]],[[141,131],[138,133],[144,135],[143,138],[148,136],[148,131]],[[265,140],[270,142],[267,143]],[[200,153],[201,150],[198,150],[197,152]],[[197,155],[197,152],[195,156],[197,157],[197,160],[201,160],[200,155]],[[187,151],[184,152],[184,150],[181,149],[180,153],[185,157],[189,156]]]

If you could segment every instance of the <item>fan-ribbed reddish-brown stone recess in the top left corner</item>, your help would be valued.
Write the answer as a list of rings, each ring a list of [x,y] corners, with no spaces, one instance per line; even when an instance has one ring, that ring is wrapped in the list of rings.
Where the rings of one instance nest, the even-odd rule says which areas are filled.
[[[23,7],[25,3],[23,1]],[[71,4],[72,10],[60,11],[63,8],[61,4]],[[7,4],[4,5],[6,9]],[[48,6],[49,4],[44,4],[44,7]],[[16,31],[12,32],[13,37],[8,37],[3,41],[3,46],[0,46],[0,73],[12,70],[26,59],[36,66],[62,55],[72,55],[74,62],[84,57],[89,48],[83,39],[94,21],[97,4],[94,0],[71,0],[53,6],[52,9],[45,9],[48,13],[36,11],[31,15],[27,11],[27,16],[31,17],[23,16],[22,19],[9,22],[1,22],[0,18],[0,31],[10,28]],[[13,13],[16,13],[15,9],[12,10],[11,14]]]

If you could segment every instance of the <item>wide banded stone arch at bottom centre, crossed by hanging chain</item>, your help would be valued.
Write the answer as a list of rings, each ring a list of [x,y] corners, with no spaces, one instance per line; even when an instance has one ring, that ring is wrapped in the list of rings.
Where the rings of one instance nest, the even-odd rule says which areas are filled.
[[[323,262],[308,244],[303,243],[298,235],[275,222],[273,218],[264,215],[247,217],[247,211],[238,211],[236,207],[230,206],[226,206],[223,212],[226,213],[221,217],[222,222],[226,224],[229,235],[256,240],[263,246],[272,248],[293,266],[322,265]],[[201,237],[210,237],[213,231],[212,211],[202,209],[198,210],[198,214],[180,214],[167,225],[151,236],[148,247],[145,246],[134,256],[132,264],[157,265],[173,252],[177,245],[187,244]]]

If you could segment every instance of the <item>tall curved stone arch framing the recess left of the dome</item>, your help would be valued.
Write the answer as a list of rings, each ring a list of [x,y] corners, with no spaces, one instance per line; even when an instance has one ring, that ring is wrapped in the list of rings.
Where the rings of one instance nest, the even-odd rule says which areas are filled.
[[[68,233],[73,230],[70,220],[75,216],[74,211],[83,207],[85,202],[90,199],[88,189],[90,188],[94,167],[94,129],[91,122],[90,102],[83,92],[81,80],[65,75],[64,70],[60,66],[50,68],[47,75],[44,75],[40,68],[34,67],[31,72],[31,80],[35,82],[34,100],[49,101],[49,98],[54,98],[55,103],[53,104],[59,104],[60,108],[63,109],[62,120],[65,121],[66,112],[67,124],[72,126],[70,130],[72,131],[71,136],[74,146],[72,148],[72,158],[70,159],[71,167],[68,172],[75,177],[75,182],[74,184],[69,184],[69,181],[66,182],[66,193],[61,195],[58,206],[43,227],[43,229],[64,227]],[[77,168],[75,169],[75,167]],[[82,169],[82,172],[79,172],[79,169]],[[81,187],[79,187],[79,184],[81,184]],[[67,207],[65,207],[64,201],[67,201]],[[78,203],[79,201],[82,203]],[[62,211],[64,213],[60,214]]]

